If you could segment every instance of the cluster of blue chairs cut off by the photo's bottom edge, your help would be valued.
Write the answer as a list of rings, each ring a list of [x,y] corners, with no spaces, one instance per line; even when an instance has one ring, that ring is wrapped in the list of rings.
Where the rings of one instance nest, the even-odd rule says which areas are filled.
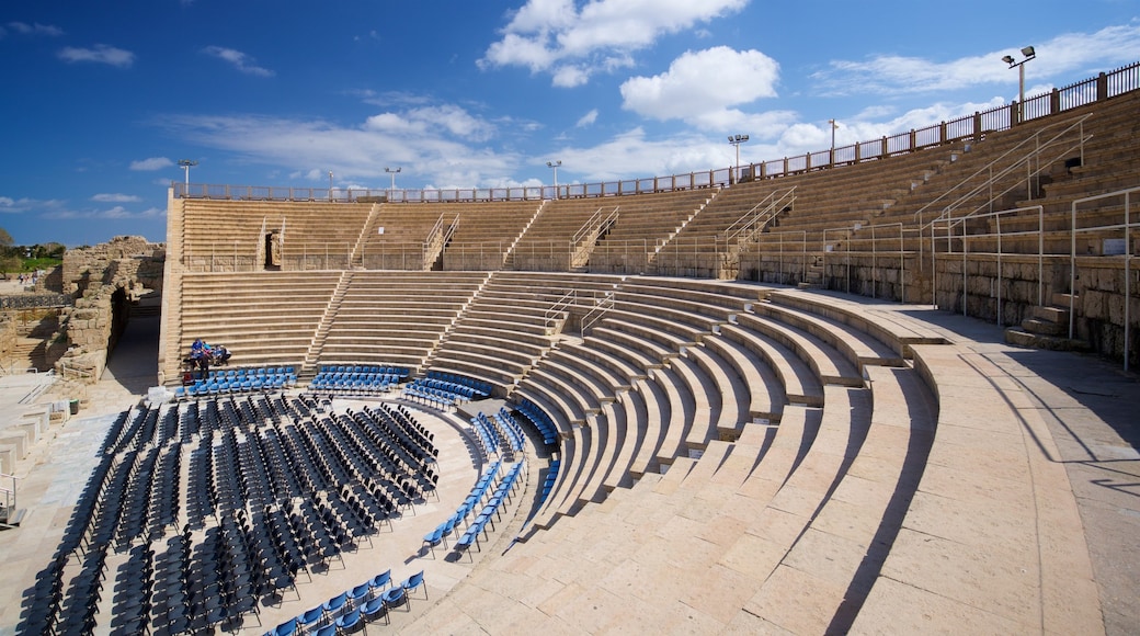
[[[267,631],[266,636],[351,634],[381,615],[391,623],[389,611],[408,602],[409,594],[417,587],[423,588],[426,600],[427,587],[424,585],[423,570],[398,584],[392,581],[392,571],[385,570],[352,589],[342,592],[320,605],[286,620]]]

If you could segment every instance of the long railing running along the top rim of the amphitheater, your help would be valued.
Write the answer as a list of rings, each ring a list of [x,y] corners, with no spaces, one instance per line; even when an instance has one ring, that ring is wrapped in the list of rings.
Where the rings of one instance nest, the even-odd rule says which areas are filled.
[[[1073,108],[1086,106],[1131,92],[1140,88],[1140,62],[1100,73],[1050,92],[1025,100],[1023,122],[1033,121]],[[785,177],[813,170],[823,170],[876,161],[902,153],[942,146],[966,139],[979,140],[986,134],[1009,130],[1017,121],[1018,104],[997,106],[972,115],[912,129],[889,137],[858,141],[829,150],[816,150],[781,160],[741,166],[749,179]],[[649,193],[665,193],[693,188],[728,186],[733,182],[733,168],[649,177],[614,182],[565,184],[513,188],[454,188],[454,189],[340,189],[292,188],[272,186],[227,186],[184,184],[171,181],[176,198],[218,198],[231,201],[320,201],[329,203],[467,203],[491,201],[539,201],[546,198],[584,198]]]

